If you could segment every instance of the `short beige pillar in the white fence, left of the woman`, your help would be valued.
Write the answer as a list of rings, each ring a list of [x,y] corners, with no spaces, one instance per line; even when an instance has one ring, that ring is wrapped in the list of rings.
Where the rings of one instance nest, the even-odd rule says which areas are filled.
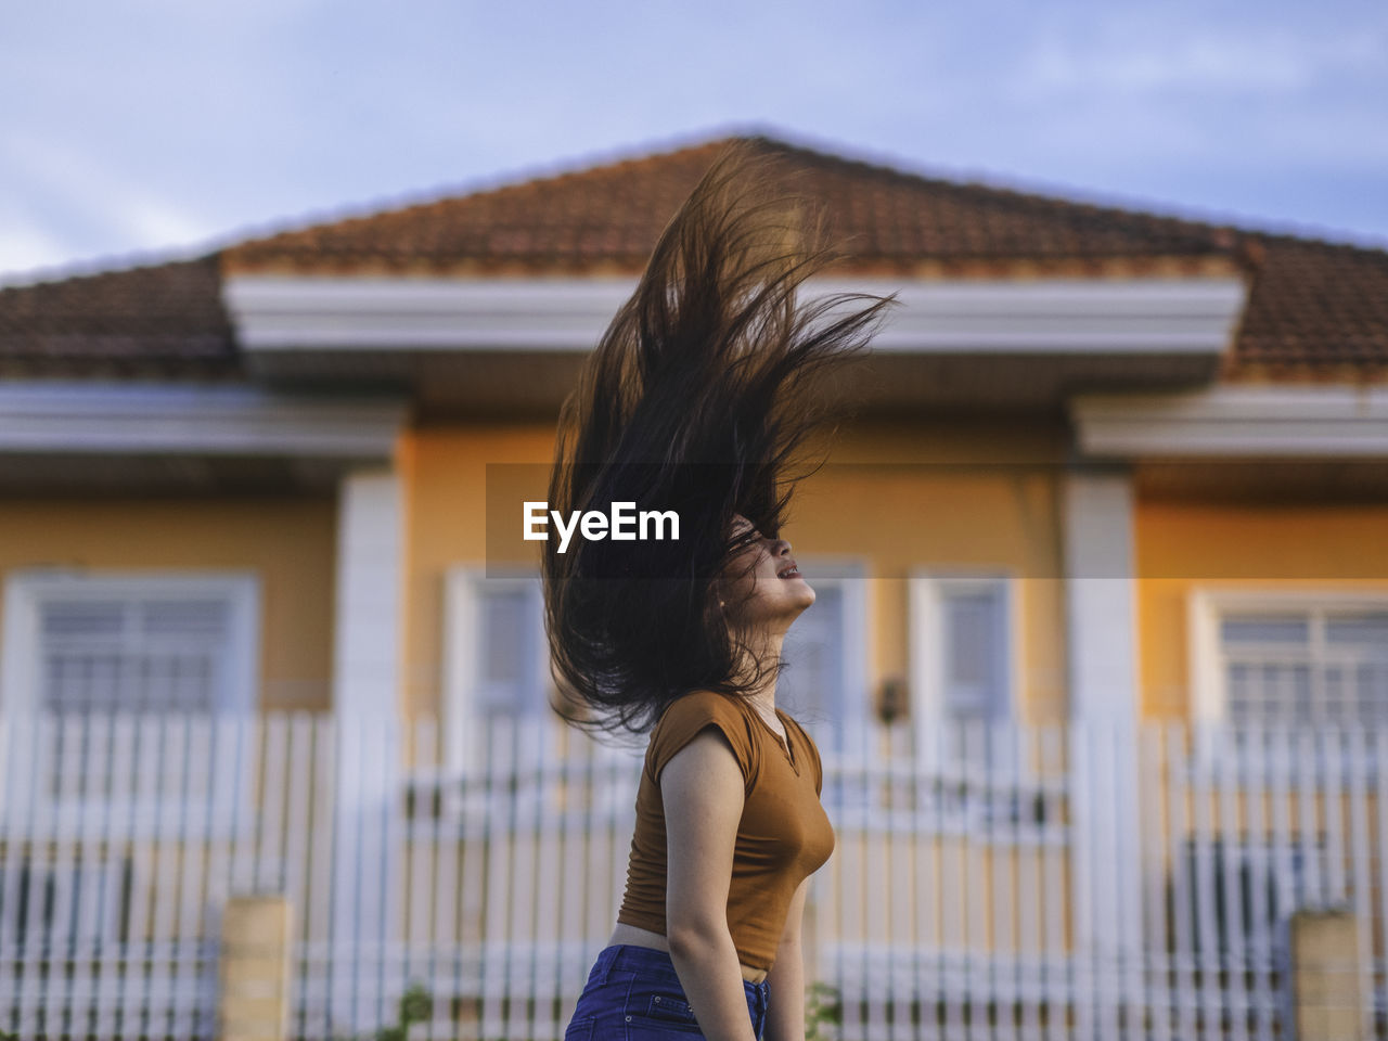
[[[218,1038],[287,1041],[291,909],[285,897],[232,897],[222,919]]]

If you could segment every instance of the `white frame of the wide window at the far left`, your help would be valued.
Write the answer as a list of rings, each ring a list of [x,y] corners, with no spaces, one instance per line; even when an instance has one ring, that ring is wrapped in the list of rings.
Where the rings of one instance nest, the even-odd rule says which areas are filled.
[[[0,633],[0,712],[11,718],[33,718],[37,720],[42,706],[37,704],[39,662],[39,613],[50,597],[62,598],[135,598],[135,597],[189,597],[225,598],[230,607],[229,648],[222,704],[217,715],[223,718],[246,716],[257,711],[260,690],[260,630],[261,630],[261,583],[254,572],[76,572],[76,570],[17,570],[6,576],[4,586],[4,627]],[[124,713],[117,715],[142,715]],[[243,731],[254,733],[243,726]],[[243,740],[235,776],[240,787],[233,798],[242,805],[250,805],[254,791],[251,765],[255,748],[250,740]],[[136,798],[82,797],[64,798],[53,795],[47,780],[33,777],[36,791],[31,793],[35,805],[29,812],[29,829],[67,834],[83,827],[85,820],[107,818],[119,822],[122,831],[133,829],[143,834],[158,826],[158,818],[167,818],[175,798],[155,794],[153,802]],[[217,783],[210,779],[210,783]],[[4,779],[0,777],[0,786]],[[3,794],[3,793],[0,793]],[[232,816],[214,820],[212,815],[197,812],[187,815],[193,827],[230,827]],[[242,813],[247,818],[247,813]]]

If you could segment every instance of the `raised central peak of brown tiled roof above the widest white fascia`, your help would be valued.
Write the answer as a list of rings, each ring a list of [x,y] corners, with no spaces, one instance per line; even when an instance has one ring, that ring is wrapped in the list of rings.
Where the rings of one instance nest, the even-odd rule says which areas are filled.
[[[859,268],[922,262],[1227,254],[1208,225],[923,178],[766,139],[787,185],[820,201]],[[491,192],[421,203],[240,243],[228,271],[505,269],[637,272],[661,229],[727,142]]]

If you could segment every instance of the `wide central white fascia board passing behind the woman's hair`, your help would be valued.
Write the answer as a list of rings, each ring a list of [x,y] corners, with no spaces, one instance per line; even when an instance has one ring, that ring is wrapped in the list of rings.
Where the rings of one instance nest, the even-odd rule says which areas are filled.
[[[586,351],[636,279],[233,275],[223,300],[250,353]],[[1217,354],[1244,307],[1237,278],[813,279],[802,298],[897,293],[873,348],[947,353]]]

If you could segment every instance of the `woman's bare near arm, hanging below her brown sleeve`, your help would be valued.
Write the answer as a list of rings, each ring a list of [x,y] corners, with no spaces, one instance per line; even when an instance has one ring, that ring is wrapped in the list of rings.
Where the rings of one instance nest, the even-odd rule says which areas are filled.
[[[727,738],[718,727],[705,727],[670,756],[659,781],[670,960],[705,1037],[756,1041],[737,948],[727,929],[743,770]]]

